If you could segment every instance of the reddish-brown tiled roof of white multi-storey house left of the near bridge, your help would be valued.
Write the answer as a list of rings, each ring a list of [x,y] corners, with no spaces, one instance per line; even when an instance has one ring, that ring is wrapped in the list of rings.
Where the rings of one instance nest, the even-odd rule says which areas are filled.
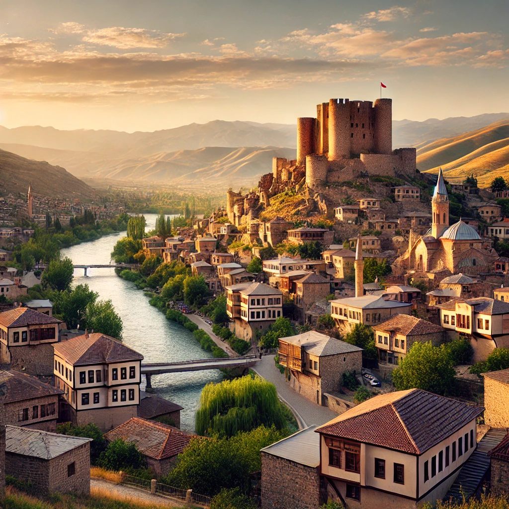
[[[89,334],[88,337],[82,334],[62,343],[55,343],[54,350],[75,366],[143,360],[142,354],[100,332]]]

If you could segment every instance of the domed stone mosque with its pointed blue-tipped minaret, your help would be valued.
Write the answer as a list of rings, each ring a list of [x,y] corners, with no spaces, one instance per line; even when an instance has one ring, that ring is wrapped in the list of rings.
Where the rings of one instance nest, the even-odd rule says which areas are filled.
[[[477,231],[461,219],[449,226],[449,197],[442,168],[431,202],[431,229],[417,238],[414,232],[410,232],[408,251],[402,257],[401,265],[407,265],[409,270],[417,272],[490,272],[498,255],[487,241],[483,241]]]

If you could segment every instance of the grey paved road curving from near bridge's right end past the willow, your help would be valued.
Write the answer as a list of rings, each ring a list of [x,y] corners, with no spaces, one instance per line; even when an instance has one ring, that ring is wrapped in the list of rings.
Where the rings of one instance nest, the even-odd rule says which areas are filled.
[[[274,355],[264,355],[252,370],[276,386],[279,397],[298,414],[297,417],[300,417],[297,418],[300,420],[299,427],[305,428],[314,424],[321,426],[337,417],[337,413],[330,408],[317,405],[290,388],[284,375],[276,368]]]

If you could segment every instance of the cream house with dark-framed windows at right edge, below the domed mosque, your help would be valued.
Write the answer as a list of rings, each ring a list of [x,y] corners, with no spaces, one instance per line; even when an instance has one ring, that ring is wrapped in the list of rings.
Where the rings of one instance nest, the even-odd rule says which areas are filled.
[[[474,349],[473,362],[486,360],[495,348],[509,347],[509,302],[478,297],[452,299],[440,309],[440,325],[451,338],[467,337]]]

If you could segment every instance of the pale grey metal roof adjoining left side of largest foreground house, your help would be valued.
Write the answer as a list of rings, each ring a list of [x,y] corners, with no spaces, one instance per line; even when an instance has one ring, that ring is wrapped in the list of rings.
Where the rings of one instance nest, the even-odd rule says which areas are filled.
[[[309,428],[264,447],[261,451],[300,465],[318,467],[320,465],[320,435],[314,433],[316,428],[316,426],[309,426]]]

